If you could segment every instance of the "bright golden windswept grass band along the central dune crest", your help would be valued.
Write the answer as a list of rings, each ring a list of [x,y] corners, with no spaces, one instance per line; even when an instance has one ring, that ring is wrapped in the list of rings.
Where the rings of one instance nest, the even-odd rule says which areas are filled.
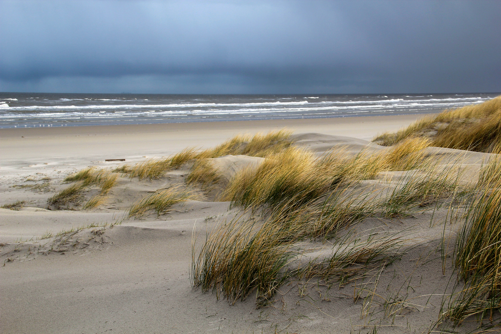
[[[297,207],[318,199],[336,185],[350,180],[372,179],[381,171],[415,168],[423,158],[426,139],[410,138],[372,156],[348,157],[333,151],[322,159],[291,147],[257,167],[241,170],[229,182],[222,199],[233,205],[259,207],[288,202]],[[290,202],[294,198],[295,203]]]

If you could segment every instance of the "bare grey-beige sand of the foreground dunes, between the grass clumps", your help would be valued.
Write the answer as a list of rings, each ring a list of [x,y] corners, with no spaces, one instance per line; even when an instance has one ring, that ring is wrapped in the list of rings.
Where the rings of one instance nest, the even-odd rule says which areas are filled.
[[[405,122],[407,119],[401,120]],[[228,137],[228,133],[200,143],[217,144],[222,137]],[[118,145],[118,153],[113,156],[127,156],[126,163],[134,163],[140,158],[144,160],[143,155],[166,155],[193,145],[198,139],[195,136],[186,140],[187,137],[181,137],[172,146],[164,144],[161,151],[157,150],[158,143],[149,151],[134,145],[127,148],[127,144],[134,141],[132,138]],[[361,137],[367,136],[310,132],[294,134],[292,140],[294,145],[317,155],[333,148],[350,155],[361,150],[370,153],[388,150]],[[45,138],[41,145],[50,141]],[[111,149],[114,145],[105,149],[107,156],[114,152]],[[137,153],[129,162],[133,151]],[[239,207],[230,208],[230,202],[213,201],[213,197],[205,194],[200,200],[174,204],[167,214],[158,217],[127,216],[134,201],[157,189],[181,184],[192,163],[169,171],[159,179],[139,181],[123,175],[110,191],[108,203],[98,208],[45,210],[47,198],[67,186],[63,179],[69,173],[90,165],[112,169],[123,163],[106,163],[101,158],[92,162],[97,155],[84,151],[78,159],[55,162],[48,158],[48,165],[28,167],[20,161],[33,163],[45,156],[40,154],[39,158],[33,152],[30,157],[26,152],[17,156],[14,151],[9,152],[7,162],[0,169],[1,204],[18,200],[26,204],[19,211],[0,209],[0,242],[3,243],[0,259],[5,263],[0,280],[1,325],[6,334],[366,333],[375,329],[378,333],[421,333],[428,332],[437,320],[443,295],[451,292],[449,280],[455,279],[447,257],[447,264],[443,266],[442,240],[447,240],[445,244],[451,247],[445,250],[447,254],[460,222],[446,223],[449,212],[444,206],[408,216],[367,218],[340,231],[338,237],[358,233],[362,240],[368,235],[377,235],[380,240],[400,238],[402,246],[413,245],[406,248],[401,259],[388,266],[375,267],[364,279],[346,285],[292,279],[279,289],[275,301],[267,307],[257,308],[254,294],[231,304],[222,295],[218,299],[214,293],[192,289],[189,278],[192,242],[196,240],[194,247],[198,249],[216,226],[242,214],[250,215],[249,212],[243,213]],[[424,156],[436,159],[437,168],[442,170],[456,166],[456,173],[460,173],[465,182],[478,177],[482,164],[492,157],[486,153],[433,147],[425,149]],[[228,181],[242,168],[258,166],[263,160],[228,155],[213,158],[211,162]],[[382,172],[373,180],[361,180],[353,191],[388,192],[401,187],[402,180],[411,172]],[[36,187],[45,183],[48,185]],[[27,184],[35,186],[22,187]],[[97,188],[88,189],[82,195],[88,200],[97,191]],[[77,229],[90,224],[93,227]],[[57,235],[63,230],[66,232]],[[48,232],[55,236],[40,239]],[[296,246],[305,251],[292,259],[288,268],[294,270],[308,263],[322,262],[335,251],[332,242],[298,243]],[[376,290],[378,295],[368,293]],[[475,323],[466,323],[456,330],[467,332],[475,327]]]

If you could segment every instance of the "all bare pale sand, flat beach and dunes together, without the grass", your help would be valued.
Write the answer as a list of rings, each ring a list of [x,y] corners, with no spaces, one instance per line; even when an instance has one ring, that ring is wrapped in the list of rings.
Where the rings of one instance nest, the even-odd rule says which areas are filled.
[[[256,308],[253,294],[230,304],[222,295],[218,299],[193,290],[192,232],[200,242],[215,224],[231,219],[239,209],[230,208],[229,202],[192,200],[175,204],[159,218],[124,219],[133,200],[182,180],[189,172],[186,168],[151,182],[122,178],[111,191],[120,201],[101,209],[45,209],[47,199],[67,186],[62,181],[68,174],[87,166],[124,164],[105,159],[133,164],[185,147],[212,147],[238,133],[284,127],[308,134],[297,136],[297,145],[315,152],[334,145],[355,152],[377,134],[396,131],[418,117],[0,129],[0,205],[27,202],[19,211],[0,209],[0,259],[5,263],[0,279],[2,333],[372,333],[376,327],[378,333],[428,332],[437,320],[443,293],[450,293],[452,269],[448,265],[443,271],[440,244],[443,235],[453,237],[457,226],[444,225],[447,210],[398,217],[391,223],[371,218],[357,227],[405,231],[401,233],[409,239],[420,240],[401,261],[378,273],[384,297],[394,301],[386,312],[375,300],[371,304],[370,298],[354,299],[365,286],[375,289],[370,281],[328,290],[291,282],[275,295],[273,305],[262,308]],[[374,150],[384,149],[376,146]],[[430,151],[433,154],[438,155]],[[487,158],[488,154],[472,153],[463,167],[477,173]],[[69,232],[65,240],[37,240],[48,232],[89,224],[108,225]],[[78,246],[72,246],[76,241]],[[325,252],[326,245],[314,246],[318,249],[308,259]],[[373,314],[376,309],[379,313]],[[473,327],[466,324],[461,330]]]

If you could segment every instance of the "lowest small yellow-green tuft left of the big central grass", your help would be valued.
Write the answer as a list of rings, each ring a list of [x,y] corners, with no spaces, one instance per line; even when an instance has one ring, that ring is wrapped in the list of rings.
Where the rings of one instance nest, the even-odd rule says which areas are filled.
[[[133,203],[128,215],[129,217],[140,218],[147,214],[148,211],[154,211],[159,217],[161,214],[168,212],[169,208],[175,203],[200,198],[201,196],[198,193],[180,186],[163,189]]]

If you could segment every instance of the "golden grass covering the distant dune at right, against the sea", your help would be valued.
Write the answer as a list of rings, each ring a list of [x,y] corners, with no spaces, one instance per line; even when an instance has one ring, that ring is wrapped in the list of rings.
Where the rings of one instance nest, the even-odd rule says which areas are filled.
[[[424,117],[396,133],[382,134],[374,141],[391,146],[411,136],[429,137],[436,147],[491,152],[501,142],[501,96],[445,110],[435,117]]]

